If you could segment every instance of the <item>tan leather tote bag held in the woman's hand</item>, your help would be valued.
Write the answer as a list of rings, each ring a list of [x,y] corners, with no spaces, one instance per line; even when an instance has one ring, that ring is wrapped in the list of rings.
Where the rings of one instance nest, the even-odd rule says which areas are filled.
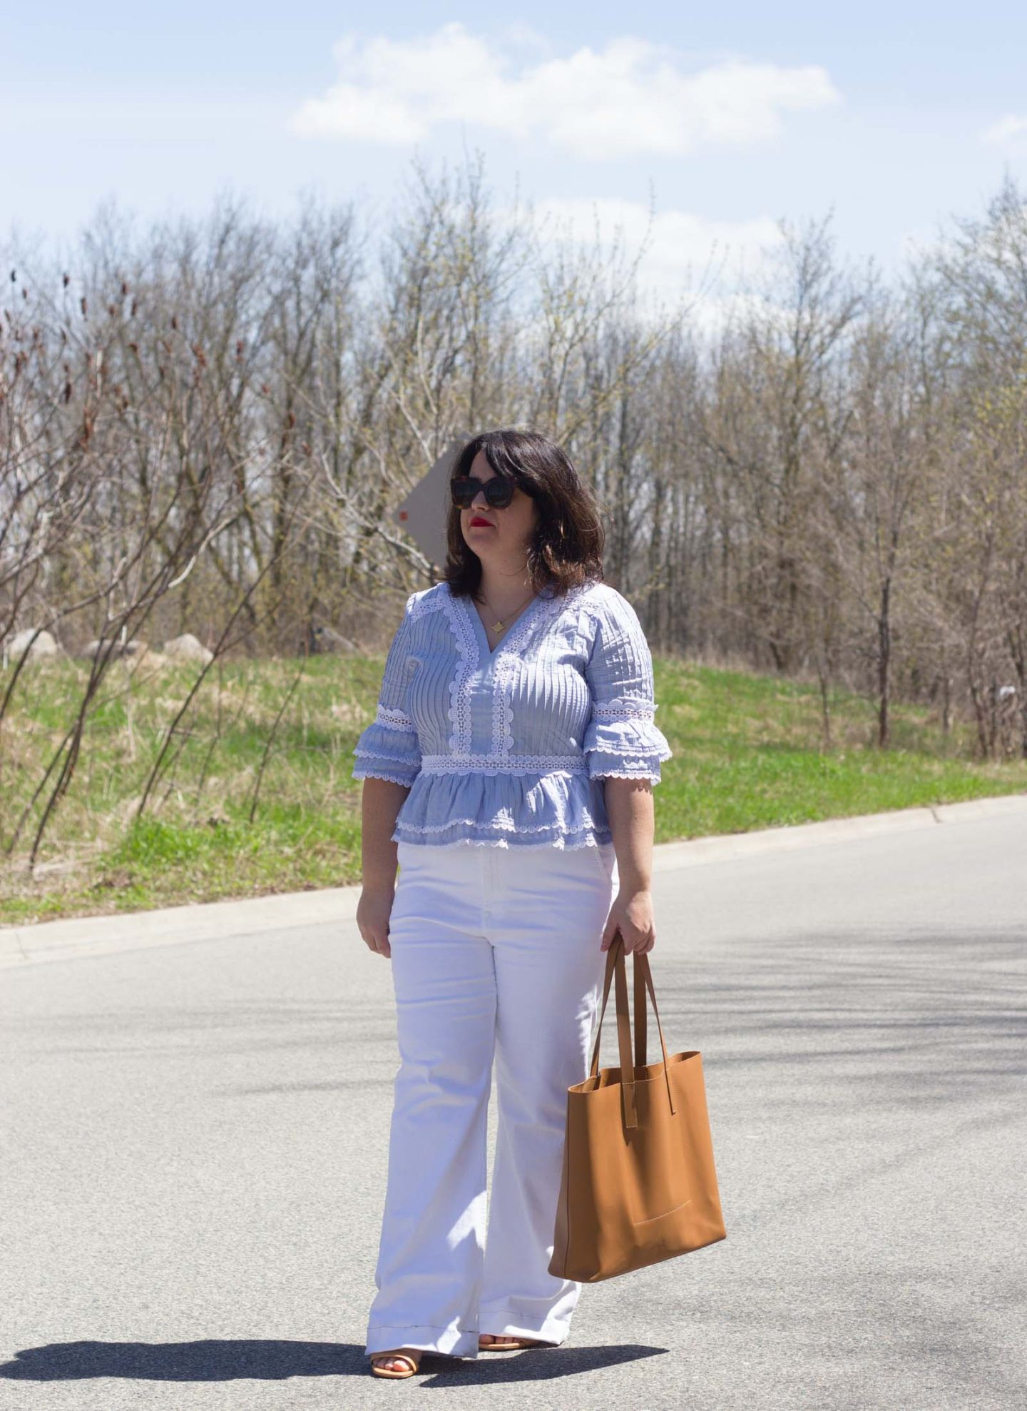
[[[727,1236],[698,1053],[667,1057],[649,957],[633,954],[635,1062],[624,940],[607,952],[590,1075],[567,1089],[560,1201],[549,1273],[595,1284],[687,1254]],[[611,976],[616,976],[619,1068],[600,1070]],[[662,1062],[646,1062],[646,991]]]

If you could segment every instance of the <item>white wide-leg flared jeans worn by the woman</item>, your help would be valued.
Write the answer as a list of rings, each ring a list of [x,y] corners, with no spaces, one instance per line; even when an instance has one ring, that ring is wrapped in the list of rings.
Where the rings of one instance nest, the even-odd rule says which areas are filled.
[[[547,1267],[567,1088],[588,1074],[616,854],[396,847],[399,1068],[367,1353],[477,1357],[480,1332],[560,1343],[581,1292]]]

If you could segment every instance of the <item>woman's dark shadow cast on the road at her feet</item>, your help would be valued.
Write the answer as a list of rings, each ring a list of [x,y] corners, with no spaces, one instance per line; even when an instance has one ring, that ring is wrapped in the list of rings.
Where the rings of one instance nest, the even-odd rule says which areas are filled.
[[[426,1353],[427,1386],[456,1381],[546,1381],[655,1357],[666,1348],[528,1348],[522,1352],[443,1357]],[[559,1356],[557,1356],[559,1353]],[[55,1342],[27,1348],[0,1364],[7,1381],[284,1381],[288,1377],[370,1377],[363,1343],[300,1342],[288,1338],[210,1338],[196,1342]]]

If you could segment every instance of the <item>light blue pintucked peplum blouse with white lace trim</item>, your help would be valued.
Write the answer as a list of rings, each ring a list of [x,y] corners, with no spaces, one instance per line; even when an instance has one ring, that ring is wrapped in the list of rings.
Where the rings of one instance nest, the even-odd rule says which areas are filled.
[[[653,666],[633,607],[594,581],[545,588],[492,652],[468,597],[412,593],[354,779],[409,787],[395,841],[597,847],[602,779],[660,782]]]

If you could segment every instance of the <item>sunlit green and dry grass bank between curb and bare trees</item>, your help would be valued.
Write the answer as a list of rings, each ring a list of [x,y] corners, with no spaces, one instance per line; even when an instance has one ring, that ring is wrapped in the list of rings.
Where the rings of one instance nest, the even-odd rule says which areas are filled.
[[[298,662],[231,663],[198,694],[176,737],[174,769],[137,817],[144,780],[195,679],[188,666],[119,666],[89,721],[68,796],[34,875],[30,816],[0,868],[0,923],[137,912],[340,886],[360,879],[360,785],[353,746],[374,714],[384,658],[316,658],[285,714],[253,792]],[[745,832],[818,818],[1027,790],[1027,762],[973,758],[959,724],[897,706],[893,746],[875,744],[873,707],[832,698],[821,749],[813,686],[657,659],[657,724],[674,758],[656,787],[656,841]],[[83,680],[75,662],[24,673],[0,729],[0,838],[8,844]],[[0,677],[0,686],[6,684]]]

